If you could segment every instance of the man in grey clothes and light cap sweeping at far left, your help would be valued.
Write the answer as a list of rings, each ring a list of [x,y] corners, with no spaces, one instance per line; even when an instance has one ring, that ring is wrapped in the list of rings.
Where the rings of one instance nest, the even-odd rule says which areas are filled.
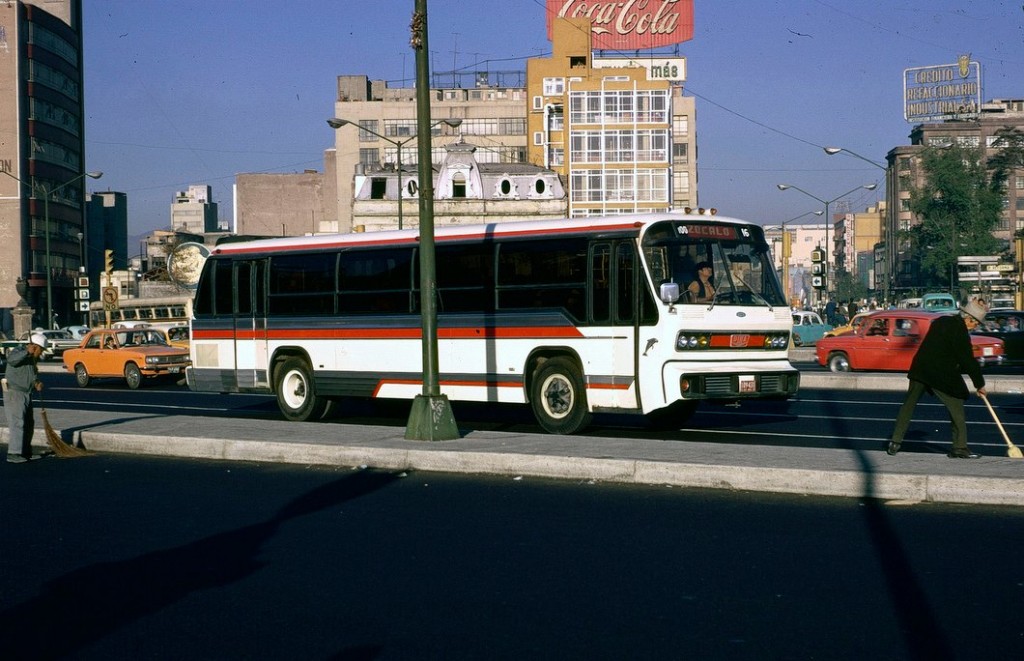
[[[26,464],[41,455],[32,453],[32,436],[35,433],[35,413],[32,409],[32,391],[41,391],[36,366],[48,341],[42,333],[29,336],[29,343],[7,353],[7,372],[3,380],[3,408],[7,415],[7,462]]]

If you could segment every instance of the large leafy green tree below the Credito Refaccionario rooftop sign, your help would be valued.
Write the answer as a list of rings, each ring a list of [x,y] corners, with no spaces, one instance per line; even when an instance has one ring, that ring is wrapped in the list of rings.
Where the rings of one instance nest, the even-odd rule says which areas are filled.
[[[910,211],[921,223],[904,233],[921,264],[927,287],[953,289],[956,258],[995,255],[992,235],[1002,211],[1006,181],[991,176],[981,148],[953,144],[922,151],[925,183],[910,189]]]

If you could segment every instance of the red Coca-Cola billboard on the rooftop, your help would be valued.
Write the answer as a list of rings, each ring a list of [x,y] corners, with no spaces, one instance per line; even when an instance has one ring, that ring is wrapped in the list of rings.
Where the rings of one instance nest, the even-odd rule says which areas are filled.
[[[555,18],[590,18],[596,50],[642,50],[693,39],[693,0],[548,0]]]

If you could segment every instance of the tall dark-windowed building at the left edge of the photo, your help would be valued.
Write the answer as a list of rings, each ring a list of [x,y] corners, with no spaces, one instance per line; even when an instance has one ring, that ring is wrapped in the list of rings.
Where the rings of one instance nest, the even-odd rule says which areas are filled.
[[[0,3],[0,328],[72,318],[88,177],[81,0]],[[48,296],[49,293],[49,296]],[[50,300],[47,300],[50,298]],[[27,321],[26,321],[27,322]],[[22,330],[23,328],[18,328]]]

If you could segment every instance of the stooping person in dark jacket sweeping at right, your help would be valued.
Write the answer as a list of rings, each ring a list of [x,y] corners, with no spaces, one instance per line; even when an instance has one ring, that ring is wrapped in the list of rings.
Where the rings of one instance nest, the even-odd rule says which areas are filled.
[[[983,301],[971,300],[961,306],[959,314],[944,314],[932,321],[906,374],[910,387],[896,415],[896,427],[886,450],[889,454],[899,452],[918,399],[927,391],[938,397],[949,411],[953,446],[946,456],[958,459],[978,456],[967,445],[964,401],[971,395],[963,374],[971,377],[979,395],[985,394],[985,378],[974,358],[969,334],[985,320],[987,311]]]

